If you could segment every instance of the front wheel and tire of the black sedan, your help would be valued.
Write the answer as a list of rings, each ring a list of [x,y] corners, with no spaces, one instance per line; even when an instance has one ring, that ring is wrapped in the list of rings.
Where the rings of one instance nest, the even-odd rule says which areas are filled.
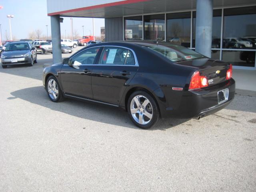
[[[60,102],[63,100],[60,84],[54,76],[48,77],[46,81],[46,92],[50,100],[52,100],[53,102]]]

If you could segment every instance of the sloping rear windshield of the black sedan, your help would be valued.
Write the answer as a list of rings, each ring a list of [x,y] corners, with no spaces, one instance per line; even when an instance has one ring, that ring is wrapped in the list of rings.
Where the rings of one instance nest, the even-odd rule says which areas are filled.
[[[182,61],[182,60],[190,60],[197,58],[205,58],[205,56],[188,49],[183,46],[175,45],[175,44],[164,44],[164,45],[150,45],[146,46],[147,48],[158,52],[162,56],[168,58],[171,61]]]

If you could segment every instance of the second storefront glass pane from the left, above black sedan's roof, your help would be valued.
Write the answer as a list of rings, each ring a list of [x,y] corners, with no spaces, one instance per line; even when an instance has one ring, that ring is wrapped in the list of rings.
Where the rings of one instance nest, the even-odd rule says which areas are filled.
[[[164,14],[144,15],[144,39],[164,40]]]

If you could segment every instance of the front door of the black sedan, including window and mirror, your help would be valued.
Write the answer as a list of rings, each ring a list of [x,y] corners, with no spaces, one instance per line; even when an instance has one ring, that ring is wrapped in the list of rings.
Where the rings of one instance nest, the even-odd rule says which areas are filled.
[[[60,72],[65,94],[92,99],[91,74],[100,47],[82,50],[64,64]]]

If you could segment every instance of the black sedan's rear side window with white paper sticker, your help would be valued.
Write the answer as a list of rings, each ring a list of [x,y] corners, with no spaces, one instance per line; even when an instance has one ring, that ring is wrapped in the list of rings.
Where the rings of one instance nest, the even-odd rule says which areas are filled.
[[[132,51],[121,47],[105,47],[100,56],[101,65],[135,65]]]

